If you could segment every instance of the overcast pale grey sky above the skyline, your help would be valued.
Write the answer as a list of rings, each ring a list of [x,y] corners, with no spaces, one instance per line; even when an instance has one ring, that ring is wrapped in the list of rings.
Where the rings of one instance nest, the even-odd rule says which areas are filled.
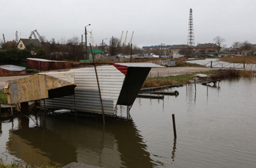
[[[193,9],[195,44],[216,36],[256,43],[256,0],[0,0],[0,39],[28,38],[37,29],[47,40],[81,39],[84,26],[100,43],[134,31],[133,44],[186,44]],[[125,35],[125,34],[124,34]],[[89,36],[88,36],[89,37]],[[124,36],[123,36],[124,39]]]

